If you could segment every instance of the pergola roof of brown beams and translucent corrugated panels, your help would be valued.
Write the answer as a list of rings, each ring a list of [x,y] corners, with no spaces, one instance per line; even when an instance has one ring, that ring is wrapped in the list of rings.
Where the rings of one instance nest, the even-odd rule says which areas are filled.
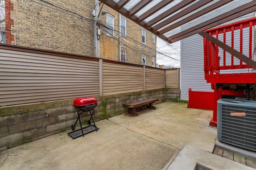
[[[256,11],[256,0],[100,1],[168,43]]]

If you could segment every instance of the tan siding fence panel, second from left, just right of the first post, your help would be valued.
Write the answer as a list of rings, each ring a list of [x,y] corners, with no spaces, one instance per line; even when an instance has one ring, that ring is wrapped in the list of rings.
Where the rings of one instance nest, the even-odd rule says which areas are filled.
[[[143,90],[143,67],[103,61],[103,95]]]

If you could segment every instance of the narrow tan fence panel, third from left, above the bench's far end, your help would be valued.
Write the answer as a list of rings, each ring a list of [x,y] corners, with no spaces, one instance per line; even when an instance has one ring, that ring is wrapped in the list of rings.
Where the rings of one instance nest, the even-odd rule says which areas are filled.
[[[146,67],[145,78],[146,90],[165,88],[164,69]]]

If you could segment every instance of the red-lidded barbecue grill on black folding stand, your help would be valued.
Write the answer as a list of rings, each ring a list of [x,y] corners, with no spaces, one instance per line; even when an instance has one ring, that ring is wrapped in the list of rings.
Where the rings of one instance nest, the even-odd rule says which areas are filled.
[[[93,119],[93,114],[94,114],[94,108],[97,106],[98,102],[96,98],[93,97],[86,97],[86,98],[76,98],[73,102],[73,106],[75,109],[78,110],[77,114],[78,117],[76,119],[76,123],[79,120],[80,123],[80,129],[74,131],[76,123],[74,125],[71,126],[72,132],[68,133],[68,135],[70,137],[72,137],[73,139],[83,136],[93,132],[93,131],[98,131],[98,127],[96,127],[95,125],[95,121]],[[88,114],[90,113],[91,117],[88,120],[88,124],[89,126],[82,128],[82,123],[80,120],[80,115],[84,112],[87,112]],[[91,119],[93,121],[93,125],[91,125]]]

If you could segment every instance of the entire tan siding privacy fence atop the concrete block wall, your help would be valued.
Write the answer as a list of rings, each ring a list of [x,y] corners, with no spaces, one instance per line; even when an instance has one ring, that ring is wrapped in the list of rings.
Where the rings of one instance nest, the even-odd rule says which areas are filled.
[[[179,69],[0,45],[0,106],[179,88],[178,82]]]

